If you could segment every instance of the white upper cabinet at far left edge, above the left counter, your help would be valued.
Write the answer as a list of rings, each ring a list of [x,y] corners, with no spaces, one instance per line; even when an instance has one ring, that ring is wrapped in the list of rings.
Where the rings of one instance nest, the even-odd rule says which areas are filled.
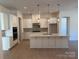
[[[7,13],[0,13],[0,29],[7,30],[9,28],[9,15]]]

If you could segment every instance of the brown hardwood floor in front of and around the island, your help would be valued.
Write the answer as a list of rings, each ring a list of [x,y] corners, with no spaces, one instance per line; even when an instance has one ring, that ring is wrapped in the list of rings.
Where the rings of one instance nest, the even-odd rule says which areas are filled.
[[[29,40],[24,40],[4,52],[4,59],[77,59],[77,52],[76,41],[70,41],[69,49],[30,49]]]

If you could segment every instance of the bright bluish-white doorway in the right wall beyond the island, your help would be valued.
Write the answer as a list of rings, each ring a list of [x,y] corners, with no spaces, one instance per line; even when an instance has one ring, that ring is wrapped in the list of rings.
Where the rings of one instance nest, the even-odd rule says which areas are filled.
[[[70,17],[62,17],[59,22],[59,33],[70,36]]]

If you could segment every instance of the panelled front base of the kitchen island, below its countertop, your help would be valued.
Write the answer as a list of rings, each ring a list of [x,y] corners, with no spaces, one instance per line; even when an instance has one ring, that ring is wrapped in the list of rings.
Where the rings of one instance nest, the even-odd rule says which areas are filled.
[[[30,39],[30,48],[68,48],[68,38],[34,37]]]

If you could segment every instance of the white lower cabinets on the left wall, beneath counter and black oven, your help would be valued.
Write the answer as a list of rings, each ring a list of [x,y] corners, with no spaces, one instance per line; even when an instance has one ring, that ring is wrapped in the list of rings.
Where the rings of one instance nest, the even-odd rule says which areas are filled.
[[[17,44],[17,40],[13,41],[13,37],[2,37],[2,49],[9,50]]]

